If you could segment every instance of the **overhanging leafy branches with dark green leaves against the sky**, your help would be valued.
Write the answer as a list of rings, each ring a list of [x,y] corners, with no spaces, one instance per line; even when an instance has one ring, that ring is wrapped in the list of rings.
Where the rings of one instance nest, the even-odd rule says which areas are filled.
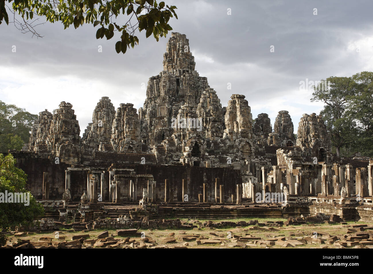
[[[0,0],[0,23],[4,20],[6,24],[9,23],[6,1],[12,3],[9,8],[12,13],[21,15],[22,20],[15,19],[14,23],[23,33],[31,32],[42,37],[34,29],[37,25],[34,15],[43,16],[51,23],[61,21],[65,29],[70,25],[78,28],[84,23],[93,24],[94,27],[99,25],[97,39],[105,36],[109,40],[115,32],[120,35],[120,40],[115,44],[117,53],[125,53],[127,47],[131,45],[133,48],[138,44],[139,40],[134,35],[137,29],[145,30],[147,38],[153,34],[158,41],[159,37],[166,36],[172,30],[169,19],[173,16],[178,18],[176,6],[154,0]],[[120,13],[127,16],[124,25],[119,23],[123,21]],[[116,19],[120,19],[119,22],[114,22]]]

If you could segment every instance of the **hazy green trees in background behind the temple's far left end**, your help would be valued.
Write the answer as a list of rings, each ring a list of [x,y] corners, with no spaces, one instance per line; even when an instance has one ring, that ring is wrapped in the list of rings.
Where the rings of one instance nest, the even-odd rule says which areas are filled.
[[[0,101],[0,152],[21,150],[28,143],[32,124],[38,118],[16,105]]]

